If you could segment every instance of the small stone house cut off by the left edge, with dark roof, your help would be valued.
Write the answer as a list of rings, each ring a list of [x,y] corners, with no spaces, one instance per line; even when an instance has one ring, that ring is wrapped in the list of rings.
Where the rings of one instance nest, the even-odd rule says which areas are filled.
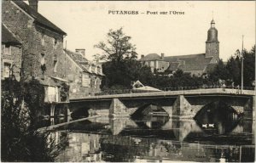
[[[13,75],[17,81],[20,81],[21,43],[3,24],[1,56],[1,79],[3,80]]]

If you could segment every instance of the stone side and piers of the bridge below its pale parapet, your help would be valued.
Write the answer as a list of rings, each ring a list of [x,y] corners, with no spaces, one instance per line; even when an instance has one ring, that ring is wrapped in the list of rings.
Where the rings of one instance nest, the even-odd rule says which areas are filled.
[[[253,100],[246,96],[221,95],[180,95],[158,98],[105,98],[86,99],[86,101],[71,102],[72,110],[84,108],[86,110],[109,110],[109,115],[132,115],[143,106],[154,104],[160,106],[169,116],[178,118],[193,118],[199,110],[212,102],[223,102],[239,113],[251,115],[253,113]],[[71,111],[72,111],[71,110]]]

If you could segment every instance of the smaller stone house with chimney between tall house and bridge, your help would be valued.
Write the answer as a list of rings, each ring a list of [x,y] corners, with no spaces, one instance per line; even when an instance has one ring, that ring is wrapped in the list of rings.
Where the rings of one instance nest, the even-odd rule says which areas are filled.
[[[70,98],[79,98],[100,93],[102,65],[85,58],[85,49],[76,52],[64,50],[66,56],[67,80],[70,82]]]

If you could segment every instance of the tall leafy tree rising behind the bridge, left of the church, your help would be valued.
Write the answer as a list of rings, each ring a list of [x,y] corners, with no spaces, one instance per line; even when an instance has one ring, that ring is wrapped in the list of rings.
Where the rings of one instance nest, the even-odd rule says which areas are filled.
[[[99,42],[95,48],[102,50],[102,56],[107,62],[102,65],[105,77],[102,80],[102,89],[128,89],[131,82],[142,80],[146,82],[152,77],[152,72],[137,61],[135,45],[131,44],[131,37],[123,32],[123,28],[116,31],[110,30],[107,43]],[[145,76],[147,74],[148,76]]]

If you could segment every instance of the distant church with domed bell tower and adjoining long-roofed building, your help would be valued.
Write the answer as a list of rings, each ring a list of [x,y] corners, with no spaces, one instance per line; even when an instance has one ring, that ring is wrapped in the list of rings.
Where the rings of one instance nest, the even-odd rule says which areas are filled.
[[[166,72],[172,74],[177,69],[189,73],[191,76],[205,76],[219,61],[218,31],[212,20],[211,28],[207,31],[206,53],[187,54],[179,56],[165,56],[157,53],[142,55],[143,65],[148,65],[152,72]]]

